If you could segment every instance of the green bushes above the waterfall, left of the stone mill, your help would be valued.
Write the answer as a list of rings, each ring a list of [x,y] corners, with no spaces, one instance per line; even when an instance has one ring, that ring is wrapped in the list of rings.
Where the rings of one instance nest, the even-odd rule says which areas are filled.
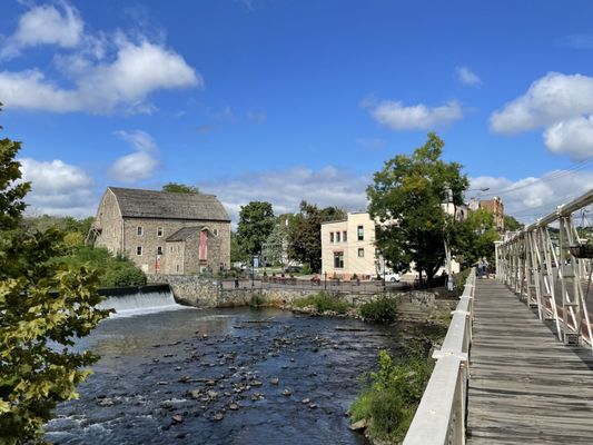
[[[125,287],[146,285],[146,275],[128,258],[113,257],[101,247],[77,246],[70,255],[52,259],[55,264],[69,266],[89,265],[99,273],[100,287]]]

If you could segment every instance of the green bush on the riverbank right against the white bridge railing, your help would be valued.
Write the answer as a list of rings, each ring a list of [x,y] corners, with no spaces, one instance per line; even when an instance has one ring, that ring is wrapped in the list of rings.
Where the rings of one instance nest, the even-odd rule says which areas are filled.
[[[417,356],[394,364],[386,350],[379,350],[379,368],[370,373],[367,385],[350,406],[352,421],[365,419],[373,438],[401,442],[433,367],[432,360]]]

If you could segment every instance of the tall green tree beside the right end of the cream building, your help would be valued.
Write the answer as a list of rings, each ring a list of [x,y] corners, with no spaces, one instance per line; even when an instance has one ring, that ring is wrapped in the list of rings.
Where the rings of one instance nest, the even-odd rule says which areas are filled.
[[[463,204],[468,181],[457,162],[441,159],[444,142],[434,132],[411,156],[397,155],[374,175],[368,187],[369,214],[379,224],[375,244],[398,271],[415,264],[421,281],[428,281],[444,264],[444,238],[452,238],[454,219],[443,204],[453,209]]]

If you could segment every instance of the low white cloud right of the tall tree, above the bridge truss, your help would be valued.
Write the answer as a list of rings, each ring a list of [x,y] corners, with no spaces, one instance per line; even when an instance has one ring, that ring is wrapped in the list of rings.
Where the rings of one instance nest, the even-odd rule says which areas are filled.
[[[505,215],[512,215],[525,224],[531,224],[583,195],[593,184],[593,171],[554,170],[541,178],[527,177],[510,180],[502,177],[476,177],[471,179],[471,188],[490,187],[485,192],[472,191],[467,198],[491,199],[500,196]]]

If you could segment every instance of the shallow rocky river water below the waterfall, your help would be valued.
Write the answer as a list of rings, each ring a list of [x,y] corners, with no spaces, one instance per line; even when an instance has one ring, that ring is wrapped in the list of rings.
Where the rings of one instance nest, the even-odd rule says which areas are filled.
[[[365,444],[345,415],[397,328],[278,309],[108,319],[101,356],[46,426],[56,444]]]

